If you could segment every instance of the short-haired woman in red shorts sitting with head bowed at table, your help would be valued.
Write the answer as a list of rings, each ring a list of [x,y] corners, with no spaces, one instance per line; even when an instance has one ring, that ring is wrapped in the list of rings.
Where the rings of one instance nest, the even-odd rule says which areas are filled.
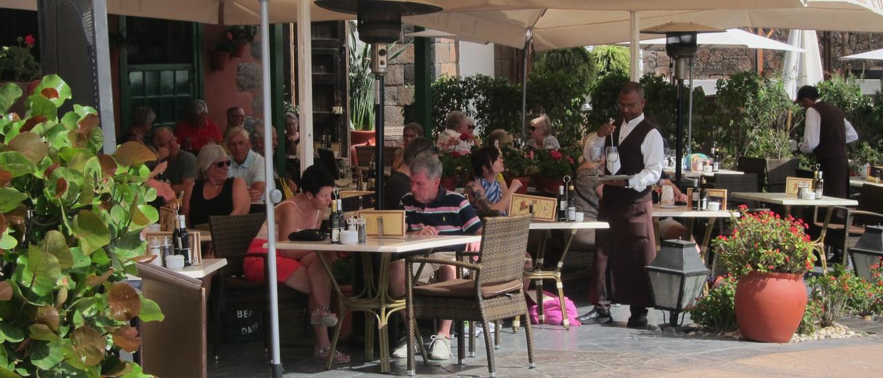
[[[288,240],[291,232],[321,228],[325,210],[331,203],[331,190],[334,178],[319,165],[313,165],[301,177],[302,193],[290,200],[283,200],[275,207],[276,238]],[[267,253],[267,223],[248,248],[248,253]],[[331,279],[315,251],[276,249],[276,281],[310,294],[310,322],[313,323],[315,344],[313,357],[320,361],[328,360],[331,342],[328,340],[328,327],[337,324],[337,316],[328,311],[331,297]],[[327,261],[335,261],[336,253],[328,253]],[[243,261],[245,279],[264,280],[264,259],[246,257]],[[349,362],[350,356],[335,352],[334,362]]]

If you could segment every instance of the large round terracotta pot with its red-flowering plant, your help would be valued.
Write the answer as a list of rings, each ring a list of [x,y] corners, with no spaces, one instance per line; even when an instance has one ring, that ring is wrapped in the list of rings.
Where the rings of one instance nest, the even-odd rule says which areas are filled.
[[[733,231],[713,246],[736,276],[736,321],[742,335],[766,343],[787,343],[806,308],[804,273],[816,259],[808,227],[772,211],[730,218]]]

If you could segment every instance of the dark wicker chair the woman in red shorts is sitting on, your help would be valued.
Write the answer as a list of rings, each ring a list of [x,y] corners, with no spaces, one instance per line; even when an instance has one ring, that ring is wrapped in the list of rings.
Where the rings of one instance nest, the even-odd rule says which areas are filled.
[[[236,308],[245,310],[260,310],[264,314],[264,324],[268,324],[269,314],[267,264],[264,264],[264,282],[250,282],[245,280],[242,261],[245,257],[265,258],[267,253],[245,253],[253,238],[260,231],[260,226],[267,220],[266,214],[246,215],[222,215],[211,216],[208,223],[211,226],[212,242],[215,245],[215,256],[219,259],[227,259],[227,265],[221,268],[215,276],[215,290],[212,291],[214,300],[213,310],[213,335],[212,352],[215,360],[220,359],[219,343],[221,340],[221,314],[224,309]],[[306,294],[294,290],[285,290],[283,285],[279,288],[279,303],[286,303],[306,308]],[[264,327],[264,347],[268,345],[269,327]]]

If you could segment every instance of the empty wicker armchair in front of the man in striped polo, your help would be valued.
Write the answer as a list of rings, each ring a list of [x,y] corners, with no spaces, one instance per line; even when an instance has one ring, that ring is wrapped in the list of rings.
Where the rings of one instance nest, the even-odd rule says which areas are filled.
[[[527,317],[525,293],[521,290],[522,269],[527,248],[527,232],[530,230],[529,215],[487,218],[481,238],[478,261],[447,261],[427,257],[410,257],[405,264],[405,296],[408,321],[408,374],[415,373],[414,346],[417,319],[450,319],[457,325],[457,361],[464,363],[464,321],[481,321],[486,331],[487,369],[496,376],[494,348],[490,321],[498,321],[517,315]],[[422,286],[414,285],[412,263],[435,263],[453,265],[472,270],[474,279],[455,279]],[[499,330],[498,330],[499,331]],[[530,324],[525,323],[527,336],[527,359],[533,361],[533,336]],[[421,342],[422,344],[422,342]],[[421,349],[421,353],[424,352]],[[425,363],[426,355],[423,355]]]

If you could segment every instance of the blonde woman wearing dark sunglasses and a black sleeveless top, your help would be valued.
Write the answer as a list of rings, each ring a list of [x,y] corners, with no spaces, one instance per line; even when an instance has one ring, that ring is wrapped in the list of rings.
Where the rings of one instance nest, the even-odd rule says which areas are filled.
[[[189,227],[208,223],[211,215],[248,213],[248,188],[242,178],[227,177],[230,157],[223,147],[202,147],[196,156],[196,169],[196,182],[184,191],[184,215]]]

